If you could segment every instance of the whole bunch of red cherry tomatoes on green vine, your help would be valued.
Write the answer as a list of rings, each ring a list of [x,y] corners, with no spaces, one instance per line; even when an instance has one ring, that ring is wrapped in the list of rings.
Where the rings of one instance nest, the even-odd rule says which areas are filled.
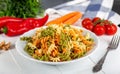
[[[117,26],[109,20],[101,19],[100,17],[84,18],[82,26],[90,31],[93,31],[96,35],[103,34],[114,35],[117,32]]]

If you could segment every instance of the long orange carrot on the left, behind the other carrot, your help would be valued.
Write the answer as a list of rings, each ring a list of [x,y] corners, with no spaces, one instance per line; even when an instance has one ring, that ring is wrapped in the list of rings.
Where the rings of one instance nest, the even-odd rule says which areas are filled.
[[[72,17],[74,17],[75,15],[78,15],[78,14],[80,14],[80,12],[77,12],[77,11],[68,13],[68,14],[66,14],[64,16],[61,16],[59,18],[56,18],[56,19],[48,22],[46,25],[64,23],[65,21],[69,20],[70,18],[72,18]]]

